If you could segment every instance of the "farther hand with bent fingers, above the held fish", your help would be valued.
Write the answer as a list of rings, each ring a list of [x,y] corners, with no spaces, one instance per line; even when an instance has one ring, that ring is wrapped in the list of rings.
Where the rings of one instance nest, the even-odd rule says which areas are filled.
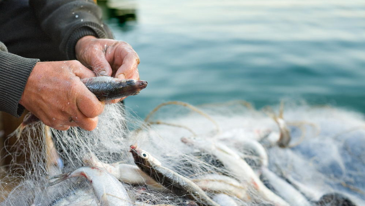
[[[85,36],[77,41],[75,52],[76,58],[95,74],[119,79],[139,79],[139,57],[127,42]]]

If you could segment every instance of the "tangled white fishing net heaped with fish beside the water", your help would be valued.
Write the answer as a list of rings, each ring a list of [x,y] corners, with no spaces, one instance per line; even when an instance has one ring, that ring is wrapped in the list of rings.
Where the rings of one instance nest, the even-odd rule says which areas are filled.
[[[1,206],[365,205],[364,117],[329,106],[166,102],[143,121],[111,104],[94,131],[38,122],[12,138]]]

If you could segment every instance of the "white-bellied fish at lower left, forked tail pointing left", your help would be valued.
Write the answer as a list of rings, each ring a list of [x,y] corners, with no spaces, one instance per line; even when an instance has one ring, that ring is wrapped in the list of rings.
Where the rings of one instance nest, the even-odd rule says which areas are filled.
[[[58,180],[49,183],[57,184],[71,177],[84,176],[91,184],[96,198],[102,206],[132,206],[132,201],[123,184],[107,171],[97,166],[82,166],[73,172],[54,176]]]

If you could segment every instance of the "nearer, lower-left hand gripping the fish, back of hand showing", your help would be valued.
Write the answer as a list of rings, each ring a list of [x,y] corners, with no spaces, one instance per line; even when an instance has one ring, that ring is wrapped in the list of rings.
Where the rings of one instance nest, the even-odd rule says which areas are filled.
[[[80,80],[93,76],[76,60],[38,62],[19,103],[57,130],[68,130],[70,126],[93,130],[104,103]]]

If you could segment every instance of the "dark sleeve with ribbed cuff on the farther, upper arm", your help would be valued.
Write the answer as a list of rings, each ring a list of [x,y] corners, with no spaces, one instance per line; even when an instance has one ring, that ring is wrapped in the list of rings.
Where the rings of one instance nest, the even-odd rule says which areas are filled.
[[[81,37],[113,38],[92,0],[30,0],[30,6],[42,30],[68,60],[76,59],[75,45]]]

